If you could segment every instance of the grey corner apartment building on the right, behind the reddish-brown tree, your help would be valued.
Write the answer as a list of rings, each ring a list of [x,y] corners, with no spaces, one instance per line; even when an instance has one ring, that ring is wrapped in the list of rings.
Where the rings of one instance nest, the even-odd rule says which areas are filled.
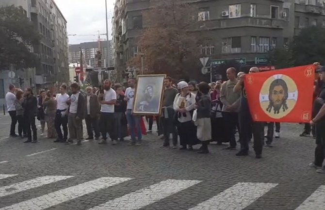
[[[189,0],[197,8],[192,31],[204,34],[202,57],[217,68],[227,59],[269,68],[267,52],[285,46],[303,27],[325,27],[324,0]],[[139,53],[137,38],[150,0],[116,0],[113,20],[115,68],[130,69],[128,60]],[[210,65],[210,63],[208,64]]]

